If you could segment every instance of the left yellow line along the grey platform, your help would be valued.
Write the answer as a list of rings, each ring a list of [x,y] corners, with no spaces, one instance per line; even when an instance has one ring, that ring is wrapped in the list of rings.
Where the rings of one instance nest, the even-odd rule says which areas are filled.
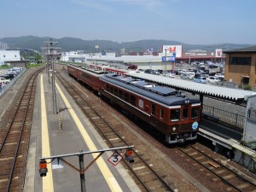
[[[49,132],[47,124],[47,113],[45,107],[45,97],[44,97],[44,76],[41,75],[41,122],[42,122],[42,157],[49,157]],[[48,172],[46,177],[43,178],[43,192],[53,192],[53,177],[51,164],[47,164]]]

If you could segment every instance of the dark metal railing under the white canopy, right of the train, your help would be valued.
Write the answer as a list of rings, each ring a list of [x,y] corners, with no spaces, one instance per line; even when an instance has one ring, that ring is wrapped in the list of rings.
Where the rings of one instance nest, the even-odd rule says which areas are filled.
[[[219,108],[213,108],[208,105],[203,105],[203,113],[212,115],[213,117],[218,118],[218,120],[234,125],[239,129],[244,128],[245,116],[243,115],[224,111]]]

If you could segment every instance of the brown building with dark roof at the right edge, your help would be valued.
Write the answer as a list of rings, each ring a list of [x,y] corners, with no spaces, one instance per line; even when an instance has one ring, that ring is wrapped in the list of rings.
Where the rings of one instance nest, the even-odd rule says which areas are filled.
[[[256,46],[224,51],[224,79],[256,89]]]

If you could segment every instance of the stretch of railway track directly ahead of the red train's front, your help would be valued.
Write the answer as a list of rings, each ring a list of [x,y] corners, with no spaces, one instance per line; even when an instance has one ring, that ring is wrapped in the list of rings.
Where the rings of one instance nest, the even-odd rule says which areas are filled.
[[[256,191],[256,182],[253,181],[253,179],[225,165],[224,162],[213,159],[204,151],[200,151],[198,148],[194,148],[191,145],[183,148],[177,147],[177,149],[187,155],[190,160],[194,160],[197,164],[206,169],[207,172],[210,172],[210,174],[204,173],[209,179],[213,176],[212,181],[221,180],[223,183],[226,183],[228,185],[227,191]]]

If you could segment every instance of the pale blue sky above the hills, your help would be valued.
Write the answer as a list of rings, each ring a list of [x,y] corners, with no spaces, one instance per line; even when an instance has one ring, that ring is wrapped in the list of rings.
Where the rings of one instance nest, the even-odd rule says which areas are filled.
[[[0,0],[0,38],[256,44],[255,0]]]

